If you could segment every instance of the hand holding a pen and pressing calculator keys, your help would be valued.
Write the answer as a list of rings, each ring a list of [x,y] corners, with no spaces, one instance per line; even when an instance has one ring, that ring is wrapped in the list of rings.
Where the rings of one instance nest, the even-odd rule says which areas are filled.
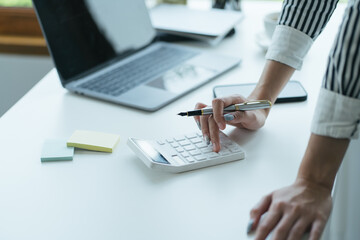
[[[212,115],[194,117],[197,125],[201,128],[204,140],[207,143],[210,143],[210,141],[212,142],[213,151],[220,151],[219,131],[224,130],[226,124],[249,130],[259,129],[265,124],[268,111],[264,109],[254,111],[236,111],[224,115],[223,110],[225,107],[245,101],[248,100],[240,95],[215,98],[212,101],[212,108],[214,112]],[[195,109],[202,109],[205,107],[207,107],[206,104],[197,103]]]

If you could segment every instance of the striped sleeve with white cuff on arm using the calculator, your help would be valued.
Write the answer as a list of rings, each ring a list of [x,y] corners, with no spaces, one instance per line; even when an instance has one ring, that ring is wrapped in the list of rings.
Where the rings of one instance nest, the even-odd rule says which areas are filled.
[[[266,59],[301,69],[313,41],[322,32],[338,0],[285,0]]]

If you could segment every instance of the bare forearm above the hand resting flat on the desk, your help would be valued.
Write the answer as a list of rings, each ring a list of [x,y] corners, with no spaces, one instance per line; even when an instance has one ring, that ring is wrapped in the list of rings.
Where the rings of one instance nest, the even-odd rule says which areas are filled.
[[[331,190],[349,141],[311,134],[297,180],[305,180]]]

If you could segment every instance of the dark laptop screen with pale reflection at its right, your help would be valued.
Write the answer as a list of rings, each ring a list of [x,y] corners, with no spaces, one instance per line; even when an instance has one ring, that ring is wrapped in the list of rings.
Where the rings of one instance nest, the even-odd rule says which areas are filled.
[[[33,0],[65,84],[145,47],[155,37],[144,0]]]

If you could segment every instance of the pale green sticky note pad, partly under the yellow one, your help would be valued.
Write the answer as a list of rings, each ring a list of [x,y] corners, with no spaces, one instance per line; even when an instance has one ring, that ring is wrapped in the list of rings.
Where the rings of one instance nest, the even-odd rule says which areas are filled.
[[[66,146],[66,140],[48,139],[44,142],[41,161],[68,161],[74,156],[74,148]]]

